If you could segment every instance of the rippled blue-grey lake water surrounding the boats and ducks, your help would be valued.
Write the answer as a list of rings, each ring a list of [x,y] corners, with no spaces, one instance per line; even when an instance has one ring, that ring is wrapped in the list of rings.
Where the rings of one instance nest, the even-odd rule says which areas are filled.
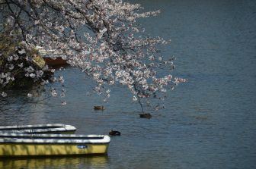
[[[152,36],[171,39],[174,74],[189,80],[169,92],[166,108],[139,118],[120,87],[105,104],[88,95],[91,80],[68,67],[66,102],[29,102],[24,91],[0,101],[0,125],[72,124],[77,133],[112,137],[107,156],[0,159],[0,168],[256,168],[256,1],[140,0],[158,17],[141,20]],[[59,74],[59,72],[57,72]],[[106,110],[94,111],[94,105]]]

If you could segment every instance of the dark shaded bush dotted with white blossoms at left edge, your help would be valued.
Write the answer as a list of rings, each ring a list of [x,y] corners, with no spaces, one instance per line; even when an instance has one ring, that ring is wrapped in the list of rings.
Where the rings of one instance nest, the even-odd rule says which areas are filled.
[[[9,48],[9,46],[8,46]],[[10,50],[10,49],[9,49]],[[16,44],[10,52],[0,52],[0,92],[7,96],[5,89],[26,86],[27,83],[48,83],[48,67],[40,67],[24,45]]]

